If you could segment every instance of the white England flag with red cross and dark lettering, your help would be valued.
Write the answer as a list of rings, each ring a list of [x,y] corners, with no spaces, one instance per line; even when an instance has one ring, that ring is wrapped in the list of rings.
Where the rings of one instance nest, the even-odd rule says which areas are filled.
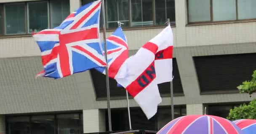
[[[157,84],[172,80],[172,48],[173,33],[169,25],[125,60],[120,67],[125,77],[115,78],[128,90],[148,119],[155,115],[157,105],[162,102]],[[164,74],[165,69],[168,72]]]

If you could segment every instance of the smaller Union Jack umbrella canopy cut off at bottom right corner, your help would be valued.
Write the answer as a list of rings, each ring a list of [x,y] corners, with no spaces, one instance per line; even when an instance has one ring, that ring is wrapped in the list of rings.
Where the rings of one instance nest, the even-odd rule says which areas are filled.
[[[244,134],[255,134],[256,133],[256,120],[253,119],[240,119],[233,121]]]

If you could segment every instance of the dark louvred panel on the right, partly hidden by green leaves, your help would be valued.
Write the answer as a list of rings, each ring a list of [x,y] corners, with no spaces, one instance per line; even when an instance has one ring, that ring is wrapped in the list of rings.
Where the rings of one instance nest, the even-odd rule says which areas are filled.
[[[251,80],[256,68],[256,54],[228,54],[193,57],[201,92],[237,91],[237,86]],[[246,65],[246,67],[244,67]]]

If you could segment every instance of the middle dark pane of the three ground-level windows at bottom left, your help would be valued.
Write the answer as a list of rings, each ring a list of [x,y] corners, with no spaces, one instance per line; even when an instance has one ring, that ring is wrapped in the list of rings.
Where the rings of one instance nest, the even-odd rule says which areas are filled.
[[[32,116],[31,133],[32,134],[54,134],[54,116]]]

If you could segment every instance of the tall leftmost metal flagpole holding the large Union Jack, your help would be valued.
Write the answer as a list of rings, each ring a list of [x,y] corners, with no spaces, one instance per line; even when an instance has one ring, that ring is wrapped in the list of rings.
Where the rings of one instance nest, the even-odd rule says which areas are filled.
[[[102,16],[103,16],[103,37],[104,37],[104,55],[106,62],[107,60],[107,43],[106,43],[106,21],[105,21],[105,6],[104,0],[102,0]],[[106,65],[106,83],[107,83],[107,110],[108,110],[108,119],[109,119],[109,131],[112,131],[111,124],[111,110],[110,110],[110,95],[109,95],[109,71],[108,71],[108,63]]]

